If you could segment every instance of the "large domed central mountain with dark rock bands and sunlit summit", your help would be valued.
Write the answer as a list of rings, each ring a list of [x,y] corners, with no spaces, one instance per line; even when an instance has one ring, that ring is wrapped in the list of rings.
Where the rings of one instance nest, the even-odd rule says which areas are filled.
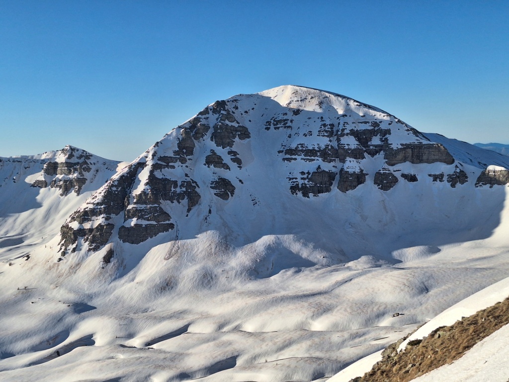
[[[62,226],[58,260],[101,251],[115,262],[115,253],[147,251],[137,244],[174,245],[205,232],[230,249],[294,235],[324,251],[282,245],[293,265],[390,257],[402,245],[464,235],[478,214],[463,215],[457,201],[507,183],[507,168],[505,156],[423,134],[338,94],[298,86],[240,94],[207,106],[112,177]],[[249,266],[267,245],[255,245],[261,252]]]

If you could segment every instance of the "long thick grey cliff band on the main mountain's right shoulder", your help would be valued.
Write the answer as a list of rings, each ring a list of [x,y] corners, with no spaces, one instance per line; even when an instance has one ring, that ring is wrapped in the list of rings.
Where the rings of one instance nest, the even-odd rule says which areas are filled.
[[[385,149],[384,159],[387,166],[399,165],[403,162],[410,163],[435,163],[442,162],[452,165],[454,158],[445,147],[438,143],[403,145],[398,149]]]

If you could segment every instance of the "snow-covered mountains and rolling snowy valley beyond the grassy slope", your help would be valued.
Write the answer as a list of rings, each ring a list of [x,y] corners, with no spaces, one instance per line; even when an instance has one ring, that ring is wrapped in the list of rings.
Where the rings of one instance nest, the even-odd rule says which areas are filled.
[[[0,158],[0,380],[325,381],[509,278],[509,156],[335,93],[216,101],[124,165]]]

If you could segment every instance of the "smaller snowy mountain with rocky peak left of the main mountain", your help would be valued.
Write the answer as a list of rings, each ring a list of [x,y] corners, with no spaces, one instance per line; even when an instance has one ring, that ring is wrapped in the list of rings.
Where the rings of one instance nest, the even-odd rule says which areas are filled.
[[[119,163],[72,146],[0,157],[0,248],[29,248],[53,237],[55,225],[114,175]]]

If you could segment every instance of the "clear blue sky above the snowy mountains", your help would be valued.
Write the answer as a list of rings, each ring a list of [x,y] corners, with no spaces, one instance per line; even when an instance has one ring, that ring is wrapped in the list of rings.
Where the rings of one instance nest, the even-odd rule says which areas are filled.
[[[132,160],[217,99],[287,84],[509,144],[509,2],[0,0],[0,156]]]

